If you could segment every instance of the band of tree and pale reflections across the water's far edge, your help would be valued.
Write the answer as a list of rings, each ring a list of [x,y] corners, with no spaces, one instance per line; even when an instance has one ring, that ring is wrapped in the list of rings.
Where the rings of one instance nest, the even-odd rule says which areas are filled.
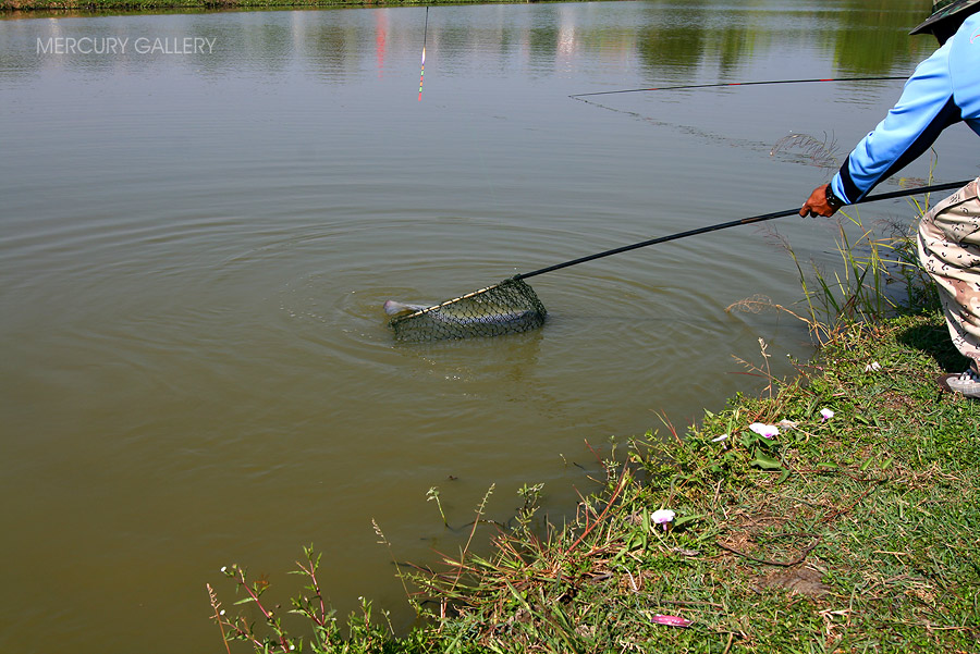
[[[492,54],[501,71],[514,63],[561,70],[589,54],[610,62],[637,59],[654,78],[665,73],[669,77],[690,75],[702,66],[716,67],[724,77],[737,73],[747,58],[764,57],[788,40],[799,39],[819,42],[821,50],[832,53],[838,74],[871,75],[907,66],[931,47],[931,37],[907,35],[923,17],[921,3],[915,0],[841,0],[792,8],[776,2],[711,1],[681,8],[672,0],[647,0],[632,10],[549,5],[522,12],[520,17],[514,15],[518,13],[514,8],[469,15],[454,9],[437,12],[442,18],[452,14],[451,20],[433,15],[427,37],[430,53],[449,65],[466,65],[468,58]],[[347,15],[350,10],[323,11],[331,12],[329,21],[320,20],[322,12],[303,11],[291,12],[287,21],[270,18],[270,12],[107,16],[97,22],[46,20],[44,26],[37,24],[40,20],[8,20],[0,74],[29,74],[52,65],[138,70],[173,52],[173,48],[168,52],[152,48],[152,40],[166,40],[169,34],[176,35],[170,38],[179,38],[180,47],[185,38],[217,41],[213,51],[188,52],[182,61],[196,70],[220,71],[234,61],[279,73],[296,59],[304,69],[341,83],[370,69],[382,73],[388,58],[420,50],[424,16],[417,11],[375,10],[367,22]],[[621,20],[624,14],[629,15],[629,23]],[[789,20],[793,17],[799,20]],[[154,36],[140,51],[137,41],[148,38],[147,21]],[[126,55],[93,54],[102,49],[99,39],[107,38],[107,29],[109,38],[124,44]],[[74,47],[71,39],[75,39]],[[52,42],[60,44],[61,52],[78,55],[52,58],[37,51],[50,49]]]

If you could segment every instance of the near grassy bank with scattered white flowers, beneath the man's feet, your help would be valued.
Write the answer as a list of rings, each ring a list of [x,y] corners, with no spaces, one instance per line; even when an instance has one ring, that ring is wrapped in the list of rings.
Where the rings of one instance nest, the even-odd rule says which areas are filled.
[[[609,451],[574,525],[537,525],[532,495],[480,525],[489,555],[401,566],[428,616],[407,636],[369,606],[341,628],[315,575],[306,620],[215,619],[283,652],[977,652],[980,403],[935,382],[963,367],[938,313],[838,332],[798,380]]]

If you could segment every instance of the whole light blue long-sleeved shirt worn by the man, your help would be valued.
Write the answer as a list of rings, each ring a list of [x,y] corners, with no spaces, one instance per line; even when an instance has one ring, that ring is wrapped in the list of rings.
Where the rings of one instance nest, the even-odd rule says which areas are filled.
[[[847,203],[861,199],[960,121],[980,134],[980,13],[918,65],[898,102],[834,175],[834,195]]]

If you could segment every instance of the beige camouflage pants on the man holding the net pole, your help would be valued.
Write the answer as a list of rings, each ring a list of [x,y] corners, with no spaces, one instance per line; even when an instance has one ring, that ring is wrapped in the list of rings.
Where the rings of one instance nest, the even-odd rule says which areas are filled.
[[[919,260],[939,286],[953,344],[980,362],[980,177],[919,223]]]

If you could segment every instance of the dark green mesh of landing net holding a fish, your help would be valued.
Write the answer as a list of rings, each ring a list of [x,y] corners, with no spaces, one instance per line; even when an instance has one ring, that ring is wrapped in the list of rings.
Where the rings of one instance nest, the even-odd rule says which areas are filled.
[[[529,284],[511,277],[404,316],[388,323],[400,341],[440,341],[500,336],[544,324],[548,311]]]

